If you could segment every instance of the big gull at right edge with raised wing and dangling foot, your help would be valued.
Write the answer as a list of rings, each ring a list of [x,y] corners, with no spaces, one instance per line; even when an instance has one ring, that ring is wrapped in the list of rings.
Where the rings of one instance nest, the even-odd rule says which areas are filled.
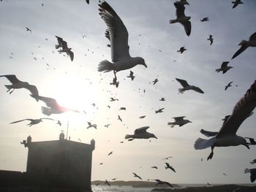
[[[256,107],[256,80],[251,85],[248,91],[244,94],[233,108],[233,113],[226,120],[226,122],[220,128],[216,137],[211,139],[198,138],[195,141],[195,150],[202,150],[207,147],[211,147],[211,153],[208,155],[207,160],[211,159],[214,155],[214,147],[228,147],[244,145],[249,149],[249,144],[244,137],[236,135],[241,123],[249,117]]]

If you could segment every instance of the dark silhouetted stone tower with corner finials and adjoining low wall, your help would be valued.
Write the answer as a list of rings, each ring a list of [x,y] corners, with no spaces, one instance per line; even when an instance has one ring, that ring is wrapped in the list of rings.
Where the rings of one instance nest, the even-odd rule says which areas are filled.
[[[0,170],[1,192],[59,192],[91,191],[91,159],[95,142],[91,144],[64,139],[31,142],[23,141],[29,148],[26,172]]]

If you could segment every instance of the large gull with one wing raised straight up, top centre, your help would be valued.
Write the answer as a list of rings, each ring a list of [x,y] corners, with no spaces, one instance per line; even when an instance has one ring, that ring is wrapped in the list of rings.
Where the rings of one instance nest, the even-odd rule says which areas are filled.
[[[124,26],[124,23],[114,9],[110,7],[106,1],[99,4],[99,15],[108,26],[108,31],[110,34],[111,58],[113,63],[108,60],[101,61],[98,66],[98,71],[113,71],[116,77],[116,72],[131,69],[138,64],[147,67],[143,58],[132,58],[129,55],[127,28]]]

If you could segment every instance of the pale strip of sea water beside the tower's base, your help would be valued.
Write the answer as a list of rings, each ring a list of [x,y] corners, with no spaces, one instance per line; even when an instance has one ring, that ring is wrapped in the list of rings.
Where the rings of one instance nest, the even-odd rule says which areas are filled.
[[[91,190],[94,192],[150,192],[153,188],[132,188],[132,186],[119,187],[117,185],[91,185]]]

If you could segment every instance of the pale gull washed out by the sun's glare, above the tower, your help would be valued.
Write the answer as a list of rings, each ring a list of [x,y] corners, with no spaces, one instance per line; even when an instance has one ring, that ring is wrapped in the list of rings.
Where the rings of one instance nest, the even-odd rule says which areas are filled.
[[[30,95],[34,99],[44,101],[47,107],[41,107],[42,113],[45,115],[59,114],[67,111],[79,112],[78,110],[72,110],[67,107],[60,106],[57,101],[50,97]]]

